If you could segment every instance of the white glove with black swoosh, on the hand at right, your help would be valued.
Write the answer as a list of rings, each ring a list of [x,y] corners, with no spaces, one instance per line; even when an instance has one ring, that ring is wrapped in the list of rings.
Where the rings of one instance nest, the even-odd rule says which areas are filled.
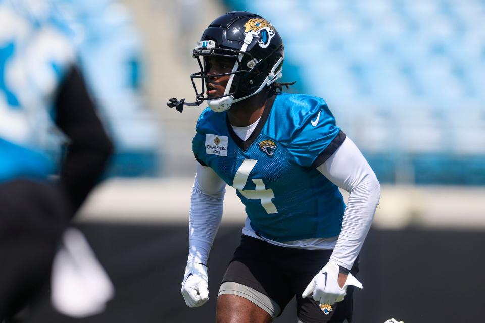
[[[346,295],[347,286],[353,285],[362,288],[362,284],[351,273],[347,276],[344,287],[338,285],[338,265],[327,263],[321,271],[313,277],[310,284],[302,294],[302,297],[312,295],[313,299],[320,304],[332,305],[340,302]]]

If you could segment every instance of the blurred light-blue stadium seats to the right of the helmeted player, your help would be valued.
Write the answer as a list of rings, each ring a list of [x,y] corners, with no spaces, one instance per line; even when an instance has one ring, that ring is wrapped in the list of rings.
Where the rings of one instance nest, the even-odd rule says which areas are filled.
[[[268,19],[382,183],[485,185],[485,2],[225,0]],[[296,71],[296,72],[295,72]]]

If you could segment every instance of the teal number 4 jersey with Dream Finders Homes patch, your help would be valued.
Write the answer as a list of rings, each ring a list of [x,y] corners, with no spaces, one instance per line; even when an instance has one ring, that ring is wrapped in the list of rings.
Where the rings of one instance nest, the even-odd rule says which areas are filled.
[[[256,233],[283,242],[340,234],[342,195],[316,168],[344,139],[323,99],[282,93],[246,141],[227,112],[205,109],[192,149],[236,189]]]

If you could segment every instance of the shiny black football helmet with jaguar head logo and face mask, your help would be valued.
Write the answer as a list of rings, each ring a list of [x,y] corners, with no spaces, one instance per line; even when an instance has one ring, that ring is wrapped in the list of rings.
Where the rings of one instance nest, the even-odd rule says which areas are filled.
[[[190,75],[196,102],[186,103],[185,99],[178,101],[173,98],[167,105],[181,112],[183,105],[197,106],[207,100],[213,111],[222,112],[232,103],[259,93],[281,78],[284,49],[280,35],[270,22],[250,12],[232,11],[209,25],[193,49],[192,56],[201,69]],[[204,96],[208,81],[206,75],[210,70],[206,58],[209,56],[234,59],[231,72],[211,75],[230,75],[224,94],[211,98]],[[201,80],[201,92],[196,86],[197,79]]]

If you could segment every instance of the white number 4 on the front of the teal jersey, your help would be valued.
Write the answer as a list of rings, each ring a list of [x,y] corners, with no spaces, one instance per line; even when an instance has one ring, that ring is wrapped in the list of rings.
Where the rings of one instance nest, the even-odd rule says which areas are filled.
[[[244,197],[250,200],[261,200],[261,205],[266,210],[268,214],[278,213],[276,206],[271,201],[274,198],[274,193],[272,189],[266,189],[262,179],[254,178],[252,179],[254,185],[256,185],[255,190],[245,190],[244,186],[248,181],[249,173],[253,170],[258,160],[254,159],[244,159],[243,164],[237,169],[236,175],[232,182],[232,187],[241,193]]]

